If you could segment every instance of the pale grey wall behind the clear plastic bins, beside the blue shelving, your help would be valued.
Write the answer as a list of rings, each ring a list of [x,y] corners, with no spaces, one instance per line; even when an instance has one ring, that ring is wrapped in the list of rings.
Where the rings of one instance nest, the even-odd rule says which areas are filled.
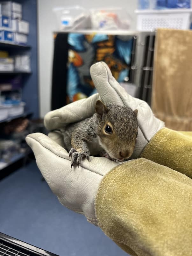
[[[52,9],[56,6],[80,5],[86,9],[98,7],[123,7],[132,18],[131,29],[136,27],[137,8],[135,0],[39,0],[38,1],[38,24],[39,24],[39,96],[40,96],[40,116],[44,117],[50,111],[51,101],[51,79],[53,60],[53,31],[57,30],[57,21]]]

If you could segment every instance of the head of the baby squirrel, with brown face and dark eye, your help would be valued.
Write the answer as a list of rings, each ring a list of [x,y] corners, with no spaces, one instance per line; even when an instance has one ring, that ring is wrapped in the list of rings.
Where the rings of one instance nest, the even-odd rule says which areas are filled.
[[[127,106],[106,105],[98,100],[95,106],[98,138],[102,148],[118,161],[128,159],[135,146],[138,132],[137,113]]]

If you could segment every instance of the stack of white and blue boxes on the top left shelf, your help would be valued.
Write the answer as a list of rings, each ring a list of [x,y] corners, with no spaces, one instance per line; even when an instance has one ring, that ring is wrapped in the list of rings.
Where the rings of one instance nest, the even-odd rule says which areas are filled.
[[[26,45],[28,34],[29,22],[22,20],[22,5],[0,2],[0,41]]]

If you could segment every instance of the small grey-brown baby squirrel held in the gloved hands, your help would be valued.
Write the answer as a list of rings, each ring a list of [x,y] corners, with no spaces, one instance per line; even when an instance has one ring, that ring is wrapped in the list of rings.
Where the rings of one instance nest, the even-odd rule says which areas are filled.
[[[113,161],[128,159],[137,138],[138,110],[97,100],[96,113],[62,131],[65,148],[71,157],[71,167],[89,155],[100,155]]]

